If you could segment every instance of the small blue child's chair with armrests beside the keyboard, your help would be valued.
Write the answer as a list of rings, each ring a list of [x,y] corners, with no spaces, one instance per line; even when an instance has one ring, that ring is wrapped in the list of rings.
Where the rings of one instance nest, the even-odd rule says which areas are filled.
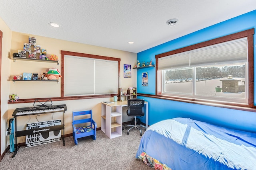
[[[76,119],[75,119],[75,116],[76,116]],[[76,125],[78,125],[79,127],[78,126],[76,127]],[[76,145],[78,144],[77,139],[81,137],[92,136],[93,140],[96,139],[97,124],[92,119],[92,110],[73,111],[72,126],[73,126],[73,138]]]

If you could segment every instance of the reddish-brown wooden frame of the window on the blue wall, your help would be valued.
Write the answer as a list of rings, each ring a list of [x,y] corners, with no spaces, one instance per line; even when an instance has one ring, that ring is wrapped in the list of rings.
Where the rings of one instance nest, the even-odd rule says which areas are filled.
[[[241,31],[238,33],[226,35],[224,37],[212,39],[209,41],[205,41],[202,43],[190,45],[188,47],[183,47],[180,49],[176,49],[173,51],[168,51],[166,53],[162,53],[159,55],[156,55],[156,95],[155,98],[162,98],[167,100],[174,100],[174,101],[180,101],[180,102],[188,102],[188,103],[194,103],[194,104],[203,104],[208,106],[217,106],[217,107],[225,107],[225,108],[232,108],[232,109],[240,109],[240,110],[247,110],[247,111],[255,111],[254,108],[254,43],[253,43],[253,35],[254,35],[254,29],[248,29],[245,31]],[[177,53],[182,53],[185,51],[190,51],[194,49],[198,49],[201,47],[207,47],[209,45],[214,45],[218,43],[223,43],[226,41],[231,41],[234,39],[239,39],[242,37],[247,37],[248,40],[248,104],[232,104],[228,102],[209,102],[202,99],[197,98],[182,98],[178,96],[163,96],[162,95],[162,71],[158,70],[158,59],[161,57],[166,57],[169,55],[174,55]],[[146,96],[146,95],[142,95]],[[147,95],[148,96],[148,95]],[[152,96],[151,96],[152,97]],[[246,108],[247,107],[247,108]],[[249,108],[248,108],[249,107]]]

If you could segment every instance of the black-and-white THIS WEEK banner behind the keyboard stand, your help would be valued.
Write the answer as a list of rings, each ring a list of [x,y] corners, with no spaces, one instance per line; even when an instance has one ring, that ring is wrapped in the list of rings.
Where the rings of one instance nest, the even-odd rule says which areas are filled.
[[[26,136],[26,147],[34,147],[36,145],[42,145],[46,143],[56,142],[61,140],[61,130],[49,131],[50,126],[61,125],[61,120],[41,121],[35,123],[28,123],[26,130],[38,129],[41,133],[35,133],[33,135]],[[45,128],[44,128],[45,127]],[[33,131],[34,132],[34,131]]]

